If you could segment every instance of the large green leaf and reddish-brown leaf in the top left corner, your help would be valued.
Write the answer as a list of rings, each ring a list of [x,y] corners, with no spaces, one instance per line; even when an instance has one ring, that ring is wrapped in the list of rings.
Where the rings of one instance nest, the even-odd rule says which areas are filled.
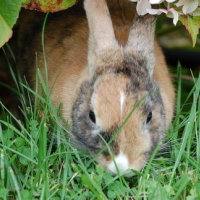
[[[41,12],[57,12],[71,7],[75,2],[76,0],[1,0],[0,47],[12,37],[12,28],[19,17],[21,7]]]

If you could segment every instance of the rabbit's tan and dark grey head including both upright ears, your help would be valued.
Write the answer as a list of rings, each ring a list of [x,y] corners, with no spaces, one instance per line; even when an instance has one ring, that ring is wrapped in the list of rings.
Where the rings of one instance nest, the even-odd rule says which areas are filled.
[[[85,0],[89,77],[73,105],[73,134],[104,168],[141,170],[166,129],[155,66],[155,16],[134,17],[125,47],[115,39],[105,0]],[[113,161],[113,158],[115,162]],[[117,167],[116,167],[116,165]],[[126,176],[132,176],[128,172]]]

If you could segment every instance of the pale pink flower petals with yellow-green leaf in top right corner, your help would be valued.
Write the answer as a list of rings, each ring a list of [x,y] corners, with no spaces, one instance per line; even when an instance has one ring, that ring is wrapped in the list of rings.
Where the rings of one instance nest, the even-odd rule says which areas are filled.
[[[167,17],[173,18],[174,25],[180,20],[189,31],[193,47],[196,43],[200,28],[200,1],[199,0],[131,0],[137,2],[139,15],[160,15],[165,13]],[[157,5],[155,9],[155,5]],[[152,8],[152,6],[154,7]]]

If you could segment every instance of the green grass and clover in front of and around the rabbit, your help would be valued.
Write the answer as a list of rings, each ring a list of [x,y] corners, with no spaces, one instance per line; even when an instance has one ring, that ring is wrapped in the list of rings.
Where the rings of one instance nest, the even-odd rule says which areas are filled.
[[[0,103],[0,199],[200,198],[200,77],[187,94],[178,67],[176,113],[164,144],[141,172],[124,178],[104,172],[71,145],[70,126],[60,124],[61,107],[53,107],[39,70],[36,92],[10,70],[25,120]],[[45,97],[37,94],[39,85]]]

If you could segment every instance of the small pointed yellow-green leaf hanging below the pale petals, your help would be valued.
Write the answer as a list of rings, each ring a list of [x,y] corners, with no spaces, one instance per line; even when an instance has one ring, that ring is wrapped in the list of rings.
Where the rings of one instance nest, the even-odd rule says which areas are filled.
[[[192,44],[194,47],[197,40],[197,34],[199,33],[200,28],[200,16],[180,16],[180,21],[189,31],[189,34],[192,37]]]

